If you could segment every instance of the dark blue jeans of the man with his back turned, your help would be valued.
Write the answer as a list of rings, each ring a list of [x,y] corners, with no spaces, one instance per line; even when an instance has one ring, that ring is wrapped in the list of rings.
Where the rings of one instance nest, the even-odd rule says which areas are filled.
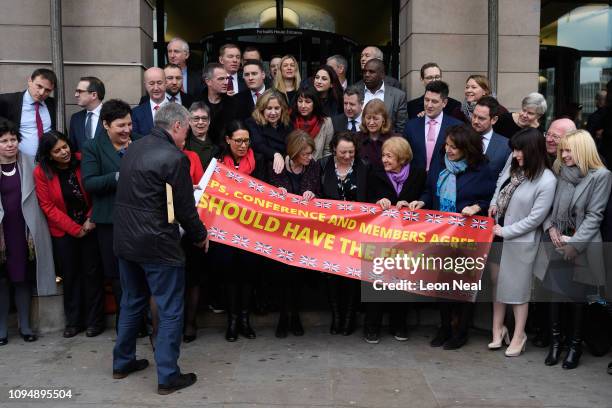
[[[177,364],[183,333],[185,269],[180,266],[140,264],[119,258],[123,296],[113,370],[125,370],[136,359],[136,335],[142,314],[153,296],[159,313],[155,363],[159,384],[169,384],[180,373]]]

